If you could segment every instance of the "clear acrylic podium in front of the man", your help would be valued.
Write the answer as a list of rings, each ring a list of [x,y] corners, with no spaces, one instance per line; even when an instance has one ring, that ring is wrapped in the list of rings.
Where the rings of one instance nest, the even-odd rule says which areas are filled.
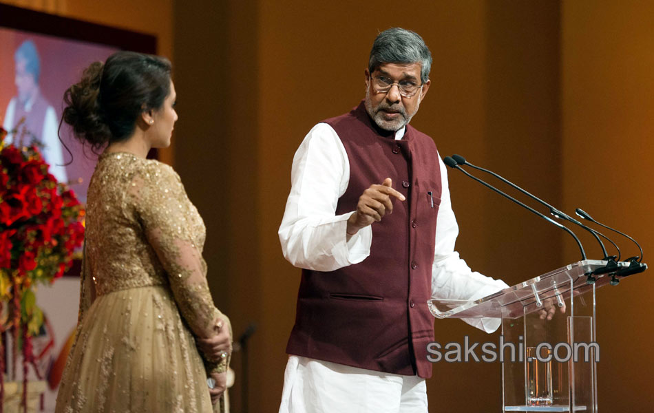
[[[597,413],[595,290],[611,276],[589,284],[588,274],[606,263],[575,262],[476,301],[432,299],[428,306],[437,318],[502,319],[494,351],[503,361],[503,412]],[[540,319],[551,306],[553,318]]]

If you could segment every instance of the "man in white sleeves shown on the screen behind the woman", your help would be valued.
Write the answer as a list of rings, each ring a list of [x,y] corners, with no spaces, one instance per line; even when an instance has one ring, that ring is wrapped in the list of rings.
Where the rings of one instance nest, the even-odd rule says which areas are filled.
[[[14,82],[18,94],[7,106],[2,127],[10,131],[18,125],[21,118],[25,118],[23,123],[25,129],[34,134],[43,144],[41,153],[45,162],[50,165],[50,173],[59,182],[67,182],[63,152],[57,135],[56,112],[39,90],[41,62],[33,41],[27,40],[21,43],[14,54],[14,63],[16,63]],[[21,131],[17,132],[20,136]],[[6,142],[10,143],[11,137],[8,137]]]

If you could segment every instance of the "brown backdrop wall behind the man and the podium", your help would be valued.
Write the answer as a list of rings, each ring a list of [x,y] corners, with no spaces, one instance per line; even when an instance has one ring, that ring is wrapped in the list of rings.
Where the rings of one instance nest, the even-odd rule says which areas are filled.
[[[177,75],[178,81],[200,87],[178,87],[193,103],[180,107],[187,120],[177,129],[176,166],[185,182],[195,179],[189,191],[206,204],[208,248],[220,251],[208,255],[210,267],[223,271],[214,273],[215,286],[229,286],[217,294],[219,301],[229,309],[237,333],[251,320],[259,324],[252,339],[251,412],[277,410],[284,346],[295,313],[299,271],[284,261],[277,240],[293,153],[317,121],[345,112],[363,96],[363,69],[379,30],[410,28],[430,45],[432,88],[414,123],[434,137],[443,154],[461,153],[496,169],[566,211],[585,206],[596,218],[651,244],[645,213],[652,204],[651,179],[644,173],[652,172],[644,162],[644,145],[637,143],[652,129],[644,113],[654,108],[648,73],[654,67],[648,56],[654,41],[646,21],[653,14],[641,3],[618,8],[556,1],[421,1],[391,7],[207,1],[196,9],[202,13],[184,11],[187,4],[176,3]],[[609,41],[616,34],[619,45]],[[207,67],[204,59],[221,63],[209,65],[208,76],[198,80],[196,66]],[[622,87],[625,77],[633,87]],[[600,106],[598,95],[613,105]],[[198,114],[191,122],[198,132],[186,134],[190,112],[210,112],[211,122],[226,123],[207,128],[202,125],[209,120]],[[191,156],[181,148],[182,139],[202,143],[189,143]],[[632,161],[637,158],[641,161]],[[205,178],[198,180],[202,171]],[[633,181],[629,189],[628,180]],[[450,182],[461,224],[458,249],[473,268],[514,284],[578,259],[567,235],[463,176],[452,174]],[[591,238],[581,236],[591,257],[598,257]],[[636,384],[641,374],[626,378],[636,371],[635,363],[653,367],[647,357],[627,351],[644,353],[651,336],[646,279],[600,291],[604,411],[646,412],[641,406],[652,400]],[[635,302],[642,304],[629,305]],[[473,341],[497,339],[459,321],[436,321],[441,343],[462,341],[464,335]],[[428,383],[432,411],[499,410],[498,364],[435,367]]]

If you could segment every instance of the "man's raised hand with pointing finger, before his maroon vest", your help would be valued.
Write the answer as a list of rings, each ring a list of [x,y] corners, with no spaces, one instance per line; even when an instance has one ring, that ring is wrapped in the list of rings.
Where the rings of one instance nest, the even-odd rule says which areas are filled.
[[[392,189],[392,180],[386,178],[381,185],[370,185],[370,188],[363,191],[357,203],[357,211],[348,218],[348,229],[346,230],[348,238],[355,235],[359,229],[379,222],[386,213],[393,212],[392,198],[395,197],[401,201],[406,200],[404,195]]]

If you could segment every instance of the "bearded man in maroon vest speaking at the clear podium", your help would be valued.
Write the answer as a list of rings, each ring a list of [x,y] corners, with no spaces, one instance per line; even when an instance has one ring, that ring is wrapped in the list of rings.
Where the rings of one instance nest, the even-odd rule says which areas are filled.
[[[507,287],[454,252],[445,165],[409,125],[431,63],[418,34],[382,32],[365,100],[315,125],[295,153],[279,239],[303,270],[279,412],[427,412],[428,299]]]

